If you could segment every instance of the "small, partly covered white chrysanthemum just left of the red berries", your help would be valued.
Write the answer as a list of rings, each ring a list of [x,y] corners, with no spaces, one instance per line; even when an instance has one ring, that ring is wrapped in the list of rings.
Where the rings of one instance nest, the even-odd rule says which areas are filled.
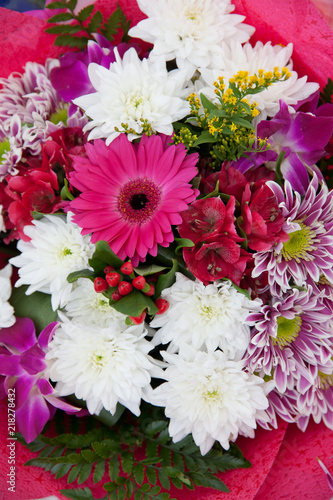
[[[93,323],[101,328],[112,325],[114,328],[127,328],[126,315],[110,307],[109,299],[96,293],[93,283],[88,279],[79,279],[70,293],[65,305],[66,316],[72,323]]]

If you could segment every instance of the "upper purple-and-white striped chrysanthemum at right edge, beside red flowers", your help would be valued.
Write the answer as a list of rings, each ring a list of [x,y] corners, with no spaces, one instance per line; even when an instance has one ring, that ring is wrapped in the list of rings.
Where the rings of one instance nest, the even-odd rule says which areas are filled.
[[[333,282],[333,191],[325,184],[318,191],[318,178],[313,179],[303,200],[293,192],[288,181],[285,190],[275,182],[268,182],[275,193],[286,219],[283,227],[289,240],[265,252],[254,255],[254,278],[268,271],[273,295],[281,295],[290,287],[291,280],[298,286],[310,277],[318,282],[321,275]]]

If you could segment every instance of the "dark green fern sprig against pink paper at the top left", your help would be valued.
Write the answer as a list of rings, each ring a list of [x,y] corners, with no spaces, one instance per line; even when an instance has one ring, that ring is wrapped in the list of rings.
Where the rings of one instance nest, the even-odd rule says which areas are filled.
[[[89,40],[95,40],[94,34],[101,33],[109,41],[113,41],[118,31],[122,31],[122,41],[128,41],[128,30],[130,21],[124,12],[117,5],[116,10],[104,21],[100,11],[94,12],[94,5],[87,5],[77,14],[74,13],[77,0],[56,1],[47,5],[48,9],[66,9],[60,14],[52,16],[48,22],[55,23],[55,26],[47,28],[45,31],[52,35],[57,35],[54,44],[63,47],[76,48],[82,50],[87,46]],[[70,24],[63,24],[64,22]],[[75,34],[78,34],[75,36]]]

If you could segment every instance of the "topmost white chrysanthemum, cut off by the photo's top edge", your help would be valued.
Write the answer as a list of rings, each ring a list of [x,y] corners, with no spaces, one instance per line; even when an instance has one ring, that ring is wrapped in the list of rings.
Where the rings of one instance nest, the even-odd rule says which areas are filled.
[[[230,14],[230,0],[138,0],[148,19],[131,28],[130,35],[154,44],[152,56],[176,59],[191,78],[199,67],[217,67],[221,45],[247,42],[254,28],[244,16]]]

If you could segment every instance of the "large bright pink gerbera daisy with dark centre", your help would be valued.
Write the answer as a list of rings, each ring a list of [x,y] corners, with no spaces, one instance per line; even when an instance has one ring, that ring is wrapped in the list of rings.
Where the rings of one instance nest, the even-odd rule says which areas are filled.
[[[74,222],[91,241],[105,240],[134,265],[157,244],[173,241],[172,225],[197,196],[197,154],[186,155],[183,144],[168,145],[166,136],[142,137],[132,144],[121,134],[109,146],[96,140],[86,145],[87,158],[75,157],[70,182],[81,191],[70,204]]]

